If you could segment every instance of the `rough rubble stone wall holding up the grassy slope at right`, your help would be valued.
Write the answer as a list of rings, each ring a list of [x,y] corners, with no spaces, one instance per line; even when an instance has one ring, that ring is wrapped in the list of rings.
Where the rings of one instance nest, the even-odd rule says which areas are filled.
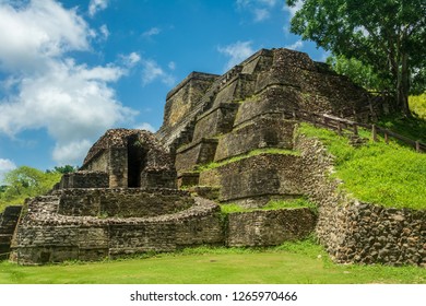
[[[305,192],[319,204],[316,233],[338,262],[426,266],[426,211],[360,203],[328,177],[333,158],[313,139],[298,136]]]

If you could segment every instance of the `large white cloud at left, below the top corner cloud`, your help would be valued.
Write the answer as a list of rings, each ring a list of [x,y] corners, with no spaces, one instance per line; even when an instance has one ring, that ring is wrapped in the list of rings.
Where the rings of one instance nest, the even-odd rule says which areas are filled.
[[[0,132],[46,128],[57,142],[75,141],[134,115],[108,87],[123,75],[122,69],[87,68],[72,60],[50,66],[43,75],[23,78],[19,95],[0,104]]]

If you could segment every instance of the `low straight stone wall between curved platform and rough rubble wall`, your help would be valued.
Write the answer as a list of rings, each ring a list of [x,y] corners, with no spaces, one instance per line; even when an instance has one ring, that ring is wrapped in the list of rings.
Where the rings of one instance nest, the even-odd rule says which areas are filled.
[[[230,247],[274,246],[301,239],[315,227],[309,209],[282,209],[228,214],[227,240]]]

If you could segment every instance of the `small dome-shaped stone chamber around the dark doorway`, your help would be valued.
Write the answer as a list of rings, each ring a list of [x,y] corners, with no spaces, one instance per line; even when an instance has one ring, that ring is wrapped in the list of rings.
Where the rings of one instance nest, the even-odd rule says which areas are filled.
[[[176,188],[171,156],[151,132],[143,130],[108,130],[91,148],[81,169],[107,173],[111,188]]]

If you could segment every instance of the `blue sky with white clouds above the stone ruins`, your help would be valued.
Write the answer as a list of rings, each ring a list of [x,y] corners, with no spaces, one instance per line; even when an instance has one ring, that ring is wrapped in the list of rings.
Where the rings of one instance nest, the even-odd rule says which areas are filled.
[[[109,128],[157,130],[169,90],[260,48],[326,52],[279,0],[0,0],[0,179],[81,165]]]

